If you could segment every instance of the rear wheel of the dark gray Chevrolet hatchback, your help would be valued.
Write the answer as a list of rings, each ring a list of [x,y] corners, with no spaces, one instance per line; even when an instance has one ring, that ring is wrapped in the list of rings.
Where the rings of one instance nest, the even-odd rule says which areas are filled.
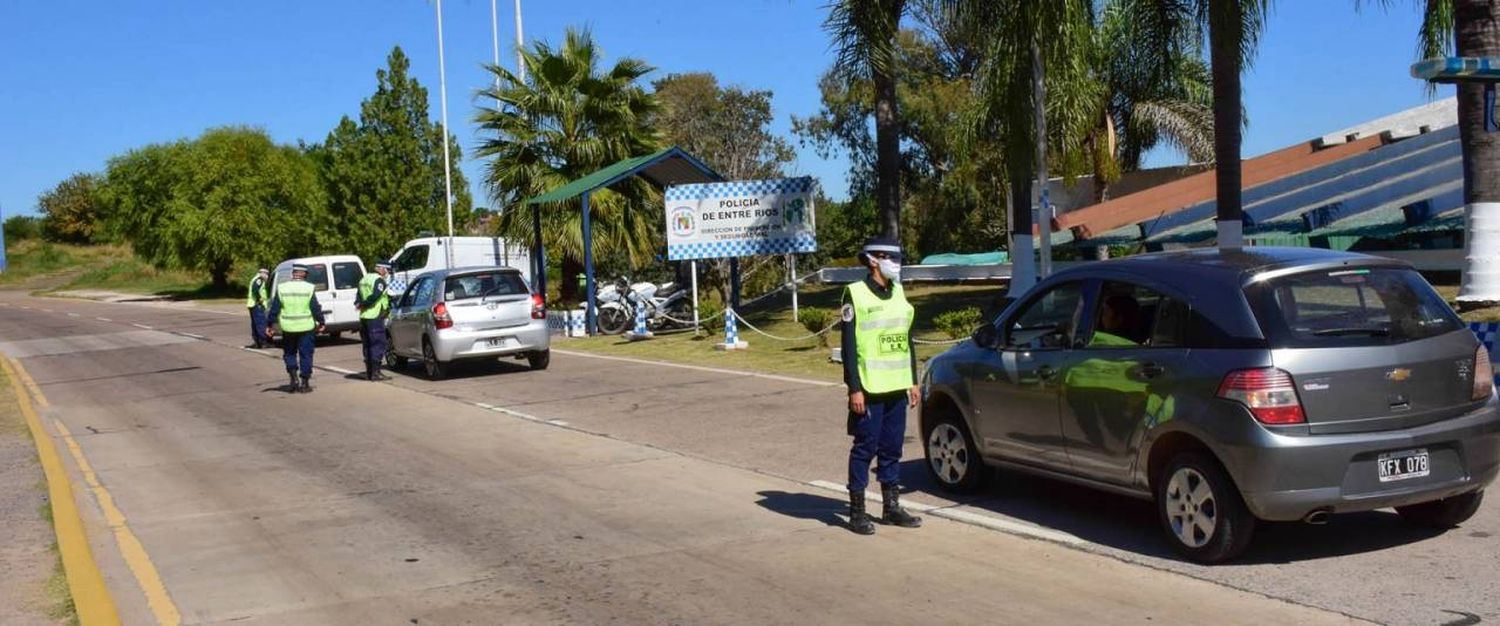
[[[1222,563],[1250,546],[1256,516],[1222,467],[1202,452],[1173,456],[1156,483],[1156,512],[1172,546],[1197,563]]]

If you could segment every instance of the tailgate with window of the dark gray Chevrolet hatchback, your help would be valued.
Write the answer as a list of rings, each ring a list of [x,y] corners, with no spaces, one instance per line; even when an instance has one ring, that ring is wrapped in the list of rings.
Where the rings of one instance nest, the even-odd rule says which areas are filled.
[[[1312,434],[1412,428],[1482,402],[1478,339],[1414,270],[1304,272],[1246,294]]]

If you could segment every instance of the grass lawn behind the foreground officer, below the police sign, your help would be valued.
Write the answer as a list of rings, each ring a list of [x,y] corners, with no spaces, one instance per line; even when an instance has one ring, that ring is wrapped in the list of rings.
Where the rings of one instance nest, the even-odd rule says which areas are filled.
[[[798,302],[802,308],[814,306],[837,311],[842,293],[842,285],[810,285],[802,288]],[[1000,285],[909,285],[906,287],[906,297],[916,308],[916,321],[912,332],[918,339],[948,339],[946,335],[933,326],[933,317],[964,306],[978,306],[984,311],[1002,294],[1004,287]],[[754,306],[748,306],[744,317],[748,318],[750,324],[771,335],[800,338],[810,333],[802,324],[792,321],[790,294],[777,294]],[[828,360],[830,348],[819,345],[818,339],[776,341],[741,324],[740,339],[748,342],[750,348],[723,351],[716,350],[714,345],[724,341],[724,333],[717,324],[714,329],[714,332],[699,338],[694,338],[692,332],[657,335],[648,341],[628,341],[616,335],[560,338],[552,345],[560,350],[579,350],[597,354],[747,369],[828,381],[843,380],[843,369]],[[838,345],[837,329],[830,330],[825,338],[826,345]],[[944,350],[948,350],[948,345],[918,344],[916,356],[926,360]]]

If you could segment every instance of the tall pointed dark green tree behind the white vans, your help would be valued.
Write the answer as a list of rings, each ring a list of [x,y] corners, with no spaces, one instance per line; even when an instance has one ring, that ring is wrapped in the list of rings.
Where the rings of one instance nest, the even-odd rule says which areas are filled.
[[[447,233],[442,125],[428,116],[428,90],[408,75],[411,62],[398,47],[375,72],[375,93],[360,104],[358,122],[345,116],[316,159],[328,195],[328,227],[342,249],[387,258],[420,231]],[[452,150],[453,230],[464,233],[472,198]]]

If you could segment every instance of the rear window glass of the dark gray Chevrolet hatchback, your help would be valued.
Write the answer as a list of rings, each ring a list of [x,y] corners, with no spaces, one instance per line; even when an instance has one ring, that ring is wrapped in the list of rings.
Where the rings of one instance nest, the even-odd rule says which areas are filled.
[[[1384,345],[1462,329],[1458,314],[1413,270],[1305,272],[1248,290],[1272,347]]]

